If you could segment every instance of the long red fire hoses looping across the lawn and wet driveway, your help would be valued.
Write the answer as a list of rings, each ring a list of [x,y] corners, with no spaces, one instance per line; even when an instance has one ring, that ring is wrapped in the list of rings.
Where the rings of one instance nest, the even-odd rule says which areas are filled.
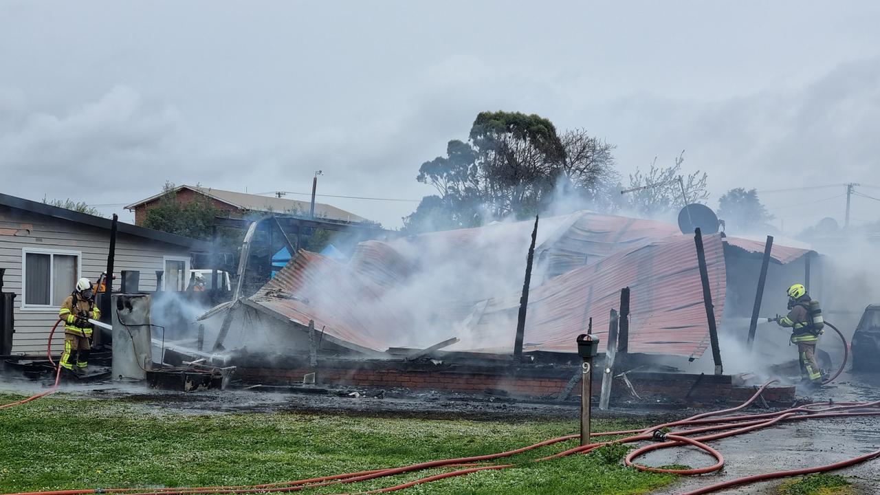
[[[548,455],[535,459],[534,462],[543,462],[556,459],[570,454],[587,454],[598,447],[614,443],[631,443],[636,441],[659,440],[659,443],[649,444],[627,454],[625,462],[627,466],[634,469],[650,470],[656,472],[672,472],[680,475],[695,475],[713,472],[721,469],[724,465],[724,458],[720,452],[712,447],[708,447],[704,442],[710,440],[718,440],[731,437],[746,432],[754,432],[767,426],[775,425],[781,422],[813,420],[826,417],[856,417],[856,416],[880,416],[880,401],[871,403],[811,403],[796,408],[781,410],[777,412],[766,412],[758,414],[740,414],[736,415],[738,410],[743,410],[758,399],[759,395],[775,380],[769,381],[761,386],[752,397],[744,403],[725,410],[717,410],[698,414],[696,416],[687,417],[678,421],[672,421],[661,425],[650,426],[642,430],[626,430],[620,432],[595,432],[593,437],[603,436],[619,436],[628,435],[626,438],[611,441],[599,441],[589,445],[574,447],[558,454]],[[671,432],[664,432],[666,429],[676,428]],[[685,429],[678,429],[685,428]],[[699,435],[699,436],[693,436]],[[253,484],[238,486],[203,486],[191,488],[160,488],[160,489],[133,489],[133,488],[112,488],[112,489],[86,489],[86,490],[61,490],[61,491],[32,491],[18,493],[14,495],[87,495],[92,493],[124,493],[130,495],[188,495],[188,494],[208,494],[208,493],[275,493],[302,491],[319,486],[327,486],[331,484],[350,484],[379,477],[390,477],[402,473],[418,471],[422,469],[432,468],[450,468],[455,469],[449,472],[436,474],[429,477],[422,477],[403,484],[396,484],[378,490],[364,491],[362,493],[381,493],[388,491],[399,491],[416,484],[424,484],[439,479],[464,476],[473,472],[490,469],[506,469],[511,468],[514,464],[487,464],[498,459],[510,457],[515,454],[522,454],[539,447],[554,445],[567,440],[575,440],[578,435],[566,435],[559,438],[544,440],[542,442],[532,444],[526,447],[520,447],[506,452],[496,454],[477,455],[472,457],[463,457],[458,459],[445,459],[441,461],[421,462],[410,466],[387,469],[370,469],[352,473],[344,473],[327,477],[314,477],[301,479],[296,481],[288,481],[271,484]],[[708,454],[715,457],[715,464],[708,468],[695,469],[659,469],[651,468],[636,464],[634,459],[651,450],[662,448],[680,447],[680,446],[698,447]],[[863,454],[844,462],[836,462],[825,466],[818,466],[808,469],[796,469],[788,471],[777,471],[754,475],[752,477],[743,477],[720,484],[713,484],[696,491],[690,491],[686,495],[698,495],[701,493],[709,493],[712,491],[722,490],[730,486],[739,484],[754,483],[779,477],[798,476],[803,474],[824,472],[832,469],[840,469],[858,462],[865,462],[880,456],[880,450],[869,454]]]

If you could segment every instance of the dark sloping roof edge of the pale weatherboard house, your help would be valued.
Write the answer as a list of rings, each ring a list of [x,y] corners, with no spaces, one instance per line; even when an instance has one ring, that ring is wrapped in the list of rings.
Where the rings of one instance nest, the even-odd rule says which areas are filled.
[[[109,230],[111,225],[113,224],[113,220],[111,220],[110,218],[96,217],[94,215],[80,213],[79,211],[73,211],[66,208],[52,206],[51,204],[40,203],[36,201],[31,201],[29,199],[4,194],[0,194],[0,206],[31,211],[40,215],[59,218],[62,220],[75,222],[77,224],[92,225],[94,227],[99,227],[107,230]],[[134,235],[143,239],[157,240],[159,242],[165,242],[168,244],[173,244],[175,246],[190,247],[192,249],[200,251],[210,250],[210,243],[205,242],[204,240],[191,239],[173,233],[165,233],[158,230],[148,229],[146,227],[141,227],[138,225],[117,222],[116,229],[117,232],[127,233],[129,235]]]

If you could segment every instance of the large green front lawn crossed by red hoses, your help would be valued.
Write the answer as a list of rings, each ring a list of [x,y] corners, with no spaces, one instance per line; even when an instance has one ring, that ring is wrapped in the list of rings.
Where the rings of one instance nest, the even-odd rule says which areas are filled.
[[[22,398],[0,394],[0,403]],[[594,431],[642,426],[596,420]],[[193,414],[121,400],[51,395],[0,410],[0,491],[264,484],[492,454],[576,432],[574,420],[495,421],[278,413]],[[403,493],[646,493],[670,475],[627,469],[598,454],[529,460],[575,440]],[[449,469],[446,469],[449,470]],[[365,491],[444,472],[432,469],[304,493]]]

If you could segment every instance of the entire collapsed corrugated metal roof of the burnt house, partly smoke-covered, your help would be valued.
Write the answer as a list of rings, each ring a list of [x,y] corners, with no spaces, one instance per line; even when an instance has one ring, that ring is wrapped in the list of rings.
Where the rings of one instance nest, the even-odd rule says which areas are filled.
[[[532,222],[428,233],[356,247],[347,262],[300,251],[251,299],[355,349],[424,348],[511,353]],[[724,245],[704,236],[716,318],[726,295]],[[731,242],[732,241],[732,242]],[[763,251],[763,245],[759,246]],[[777,262],[799,256],[774,246]],[[801,255],[803,255],[801,253]],[[693,236],[674,225],[589,211],[542,218],[524,351],[575,351],[593,318],[604,339],[620,289],[631,289],[629,351],[699,357],[708,346]]]

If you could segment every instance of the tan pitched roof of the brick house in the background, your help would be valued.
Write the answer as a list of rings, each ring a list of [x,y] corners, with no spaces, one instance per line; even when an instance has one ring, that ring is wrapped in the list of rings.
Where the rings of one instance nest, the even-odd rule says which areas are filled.
[[[216,199],[219,202],[227,203],[241,210],[275,211],[278,213],[308,213],[309,211],[311,211],[312,208],[312,204],[308,201],[297,201],[295,199],[285,199],[274,196],[259,196],[246,193],[237,193],[235,191],[224,191],[223,189],[215,188],[203,188],[201,186],[178,186],[177,188],[173,188],[172,192],[177,192],[184,188]],[[146,199],[138,201],[137,203],[129,204],[125,208],[126,210],[134,210],[136,207],[144,203],[150,203],[162,196],[165,196],[165,194],[167,193],[162,192],[158,195],[150,196]],[[345,211],[341,208],[336,208],[333,205],[325,203],[315,203],[315,217],[330,218],[345,222],[366,221],[366,218],[360,217],[358,215],[355,215],[354,213],[351,213],[350,211]]]

